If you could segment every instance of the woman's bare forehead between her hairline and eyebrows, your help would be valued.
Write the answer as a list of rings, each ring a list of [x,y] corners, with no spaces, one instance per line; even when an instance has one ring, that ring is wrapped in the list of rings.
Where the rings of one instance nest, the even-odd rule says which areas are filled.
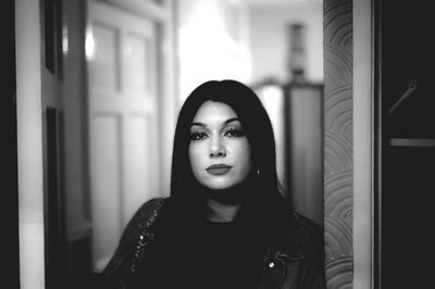
[[[208,100],[199,106],[194,122],[220,122],[234,117],[237,117],[237,114],[228,104]]]

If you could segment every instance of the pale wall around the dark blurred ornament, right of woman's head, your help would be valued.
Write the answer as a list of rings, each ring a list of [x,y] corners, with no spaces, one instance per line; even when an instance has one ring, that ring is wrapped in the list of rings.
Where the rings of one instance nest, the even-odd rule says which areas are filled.
[[[252,81],[274,77],[287,81],[288,25],[303,23],[307,39],[306,77],[323,81],[323,3],[278,3],[249,9]]]

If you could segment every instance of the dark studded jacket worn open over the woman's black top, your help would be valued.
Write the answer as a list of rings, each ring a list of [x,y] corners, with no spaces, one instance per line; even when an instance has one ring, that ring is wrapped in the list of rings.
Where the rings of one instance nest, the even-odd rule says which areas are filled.
[[[164,203],[165,199],[152,199],[136,212],[125,228],[114,255],[100,274],[98,288],[128,288],[128,280],[139,266],[147,246],[154,240],[153,224]],[[268,248],[258,288],[326,288],[322,227],[297,213],[289,214],[289,222],[296,224],[296,229],[284,235],[285,240],[281,242],[283,246]]]

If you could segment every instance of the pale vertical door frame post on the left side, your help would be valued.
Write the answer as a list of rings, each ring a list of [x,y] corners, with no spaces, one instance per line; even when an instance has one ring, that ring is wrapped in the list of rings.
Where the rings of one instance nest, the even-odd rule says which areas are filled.
[[[20,287],[45,288],[39,1],[15,1]]]

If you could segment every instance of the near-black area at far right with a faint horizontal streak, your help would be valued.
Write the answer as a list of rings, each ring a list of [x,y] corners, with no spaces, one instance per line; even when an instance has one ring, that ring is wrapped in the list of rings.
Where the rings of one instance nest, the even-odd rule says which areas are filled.
[[[435,192],[434,16],[426,1],[381,1],[376,288],[427,288]],[[431,280],[432,284],[432,280]]]

